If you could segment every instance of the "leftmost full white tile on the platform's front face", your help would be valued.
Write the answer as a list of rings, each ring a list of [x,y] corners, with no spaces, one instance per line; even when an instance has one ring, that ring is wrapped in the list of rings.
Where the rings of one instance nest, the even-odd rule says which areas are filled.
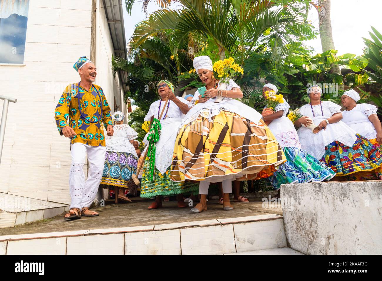
[[[66,237],[8,241],[7,255],[65,255]]]

